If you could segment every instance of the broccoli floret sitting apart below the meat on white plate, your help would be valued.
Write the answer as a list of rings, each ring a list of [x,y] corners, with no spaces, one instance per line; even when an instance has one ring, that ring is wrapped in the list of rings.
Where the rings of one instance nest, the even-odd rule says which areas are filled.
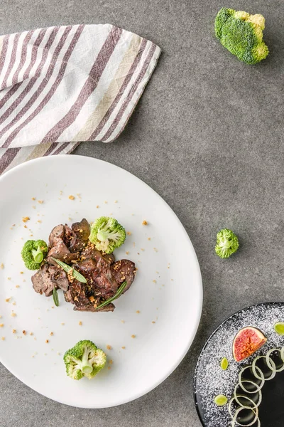
[[[72,349],[67,350],[63,360],[66,373],[72,379],[81,379],[83,376],[92,379],[104,368],[107,356],[97,348],[94,342],[84,339],[84,341],[77,342]]]

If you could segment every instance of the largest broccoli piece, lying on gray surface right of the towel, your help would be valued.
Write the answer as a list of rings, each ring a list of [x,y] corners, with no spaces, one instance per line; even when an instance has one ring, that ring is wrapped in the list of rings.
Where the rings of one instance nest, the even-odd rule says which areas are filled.
[[[250,15],[223,7],[215,18],[215,34],[222,45],[239,60],[256,64],[268,56],[263,42],[265,19],[262,15]]]

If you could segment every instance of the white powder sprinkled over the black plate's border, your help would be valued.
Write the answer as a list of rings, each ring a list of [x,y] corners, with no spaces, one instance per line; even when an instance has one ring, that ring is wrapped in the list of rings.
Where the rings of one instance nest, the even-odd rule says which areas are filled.
[[[228,400],[231,399],[241,368],[251,364],[259,354],[266,354],[273,347],[283,347],[284,337],[274,331],[274,325],[277,322],[284,322],[284,303],[259,304],[229,317],[209,338],[200,354],[195,371],[197,406],[206,427],[230,425],[231,417],[228,405],[219,407],[214,404],[215,396],[224,394]],[[235,362],[232,354],[234,337],[239,330],[248,326],[261,330],[266,336],[267,342],[248,359],[243,362]],[[220,367],[223,357],[229,361],[226,371]]]

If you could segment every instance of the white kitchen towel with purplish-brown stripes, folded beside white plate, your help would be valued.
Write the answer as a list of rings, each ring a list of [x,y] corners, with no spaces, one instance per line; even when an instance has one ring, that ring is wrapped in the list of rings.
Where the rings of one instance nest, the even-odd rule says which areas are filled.
[[[82,141],[114,141],[159,55],[151,41],[109,24],[0,36],[0,174]]]

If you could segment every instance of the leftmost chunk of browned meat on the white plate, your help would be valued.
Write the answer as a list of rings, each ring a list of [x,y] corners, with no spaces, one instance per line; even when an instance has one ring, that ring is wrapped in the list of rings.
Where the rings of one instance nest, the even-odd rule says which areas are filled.
[[[69,287],[65,271],[48,264],[43,264],[40,270],[32,276],[31,281],[35,292],[45,293],[47,297],[52,295],[53,288],[61,288],[66,291]]]

